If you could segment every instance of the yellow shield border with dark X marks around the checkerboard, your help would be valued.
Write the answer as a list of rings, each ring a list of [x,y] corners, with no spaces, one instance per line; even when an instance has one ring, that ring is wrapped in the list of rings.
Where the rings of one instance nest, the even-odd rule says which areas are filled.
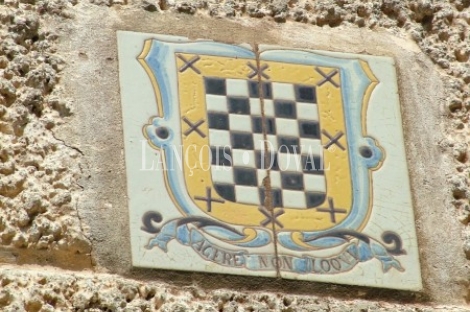
[[[181,117],[188,120],[198,121],[206,120],[206,103],[204,76],[231,78],[231,79],[248,79],[247,76],[252,71],[247,66],[248,62],[255,63],[253,59],[218,57],[210,55],[195,55],[179,53],[183,58],[190,60],[198,57],[197,68],[200,73],[194,70],[185,70],[178,72],[178,95],[180,104]],[[176,59],[177,68],[185,65],[185,62],[178,57]],[[303,85],[314,86],[317,91],[317,102],[319,108],[319,118],[322,130],[335,134],[344,133],[339,142],[343,146],[347,146],[347,132],[345,126],[345,118],[343,112],[343,102],[341,88],[334,86],[332,83],[326,82],[320,84],[324,77],[315,71],[313,66],[301,64],[288,64],[281,62],[264,62],[261,66],[267,64],[268,68],[264,71],[270,76],[269,81],[284,83],[299,83]],[[324,73],[329,73],[336,68],[321,67]],[[257,78],[257,77],[255,77]],[[332,78],[335,83],[341,86],[338,74]],[[185,136],[184,123],[181,123],[181,135],[183,142],[183,150],[188,151],[188,158],[197,159],[194,163],[183,162],[183,172],[186,181],[186,189],[191,198],[196,196],[204,196],[206,189],[211,188],[214,197],[217,196],[216,190],[213,188],[209,158],[209,129],[207,123],[203,123],[199,129],[207,134],[205,137],[199,135]],[[329,142],[329,139],[322,136],[322,145]],[[205,149],[205,151],[201,151]],[[349,165],[348,149],[341,150],[333,148],[324,151],[324,164],[329,170],[325,171],[327,183],[327,198],[334,199],[336,208],[343,208],[347,211],[344,214],[336,215],[336,223],[331,221],[329,213],[317,211],[317,208],[328,209],[328,201],[325,201],[317,208],[299,210],[284,208],[285,213],[277,219],[283,224],[285,231],[312,231],[326,230],[332,226],[338,225],[344,220],[352,208],[352,182],[351,168]],[[199,155],[205,155],[199,161]],[[217,203],[213,202],[211,212],[207,212],[206,203],[194,201],[194,204],[205,214],[235,225],[243,226],[259,226],[266,218],[258,207],[248,204],[240,204],[233,202]]]

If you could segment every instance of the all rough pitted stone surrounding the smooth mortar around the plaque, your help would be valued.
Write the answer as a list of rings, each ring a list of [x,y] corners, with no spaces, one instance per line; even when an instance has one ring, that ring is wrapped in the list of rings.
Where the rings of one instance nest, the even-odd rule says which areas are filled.
[[[73,118],[84,116],[85,111],[90,116],[94,114],[92,107],[74,105],[81,101],[78,94],[69,93],[73,89],[70,85],[79,88],[83,84],[100,83],[106,89],[107,84],[117,83],[117,77],[111,82],[99,79],[100,71],[114,66],[115,55],[74,50],[80,45],[67,35],[83,31],[82,37],[75,40],[85,40],[89,45],[99,42],[100,32],[109,26],[105,22],[100,24],[100,17],[103,20],[109,17],[107,21],[120,20],[121,24],[114,23],[122,29],[141,30],[133,29],[132,25],[126,28],[123,21],[132,20],[130,15],[142,11],[149,14],[146,15],[149,21],[156,14],[163,14],[163,19],[167,15],[177,16],[182,21],[182,29],[191,19],[207,16],[219,23],[222,19],[227,25],[232,22],[249,24],[263,18],[267,21],[263,27],[271,28],[272,32],[283,29],[283,24],[275,22],[297,23],[315,29],[387,31],[397,38],[415,42],[440,72],[447,95],[441,106],[429,103],[430,112],[440,111],[444,117],[440,124],[429,125],[428,130],[444,137],[431,143],[440,148],[443,158],[452,162],[453,169],[422,169],[442,171],[451,205],[447,202],[435,205],[461,224],[460,227],[455,225],[452,231],[462,233],[463,243],[450,240],[452,252],[441,264],[465,263],[465,257],[470,259],[469,8],[468,0],[0,0],[0,262],[50,264],[72,269],[91,267],[96,271],[116,272],[120,271],[113,267],[129,266],[126,255],[129,248],[125,243],[119,245],[119,240],[108,245],[103,243],[107,240],[106,234],[112,231],[127,235],[127,225],[106,223],[100,217],[106,214],[108,219],[114,219],[113,214],[123,212],[114,207],[122,205],[120,201],[125,196],[103,184],[116,175],[122,179],[122,154],[103,155],[102,148],[93,140],[76,145],[76,141],[69,139],[79,135],[79,130],[70,126]],[[89,32],[85,29],[74,29],[75,23],[93,26],[87,30],[92,36],[87,37]],[[169,29],[168,33],[173,31]],[[226,38],[226,41],[231,40]],[[246,38],[247,42],[249,40],[251,38]],[[63,53],[66,45],[70,45],[68,54]],[[84,67],[80,73],[70,72],[79,62],[93,66]],[[85,75],[91,78],[80,80]],[[75,76],[78,78],[74,79]],[[109,101],[119,103],[119,98]],[[96,125],[119,122],[97,117]],[[116,136],[114,133],[102,135],[109,142],[114,142]],[[108,167],[93,167],[90,159],[100,157],[107,159]],[[89,187],[100,183],[106,190]],[[420,183],[425,190],[431,182]],[[111,196],[113,192],[116,196]],[[420,194],[425,195],[425,192]],[[98,217],[97,210],[101,211]],[[447,230],[442,229],[444,233]],[[421,240],[420,244],[426,242]],[[460,244],[458,252],[452,244]],[[99,251],[96,246],[100,247]],[[112,257],[114,260],[102,260],[103,254],[116,253],[119,255]],[[469,266],[468,262],[465,266]],[[132,281],[113,275],[80,275],[59,270],[40,275],[34,272],[34,269],[42,270],[39,267],[13,273],[12,269],[15,267],[0,273],[2,311],[152,311],[156,308],[161,311],[465,311],[462,307],[402,305],[397,302],[421,302],[427,297],[394,292],[379,291],[370,295],[364,291],[368,299],[375,300],[367,302],[353,301],[344,295],[342,300],[330,299],[327,292],[318,292],[317,298],[281,295],[272,289],[266,289],[263,294],[217,291],[197,283],[191,289],[185,288],[190,287],[187,283],[181,287],[157,285],[144,282],[147,271],[133,272],[132,277],[141,281]],[[178,275],[180,282],[183,275]],[[169,279],[169,276],[161,279]],[[443,289],[466,289],[470,284],[468,274],[446,278],[448,282],[441,286]],[[258,289],[258,285],[246,279],[242,281]],[[292,292],[293,282],[285,284],[290,285],[290,291],[286,292]],[[221,287],[220,283],[216,285]],[[273,288],[279,291],[282,285]],[[342,288],[343,294],[347,292],[348,288]],[[359,297],[361,292],[360,289],[351,291],[353,296]],[[381,296],[387,303],[377,301]],[[460,293],[456,297],[470,299]]]

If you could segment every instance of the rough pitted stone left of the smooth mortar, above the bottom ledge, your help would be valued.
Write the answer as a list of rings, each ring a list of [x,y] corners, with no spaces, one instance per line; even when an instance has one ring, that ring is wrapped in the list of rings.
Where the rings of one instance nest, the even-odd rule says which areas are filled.
[[[91,251],[76,210],[82,155],[55,136],[72,105],[58,86],[65,61],[44,14],[62,10],[49,4],[57,2],[0,7],[0,244],[20,263],[38,259],[27,250],[61,259]]]

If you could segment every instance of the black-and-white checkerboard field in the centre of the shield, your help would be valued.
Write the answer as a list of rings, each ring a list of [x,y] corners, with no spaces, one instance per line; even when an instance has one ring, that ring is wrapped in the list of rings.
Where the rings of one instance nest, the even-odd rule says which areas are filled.
[[[227,201],[308,209],[326,198],[315,88],[205,77],[214,187]],[[264,125],[260,89],[264,102]],[[267,147],[263,138],[267,134]]]

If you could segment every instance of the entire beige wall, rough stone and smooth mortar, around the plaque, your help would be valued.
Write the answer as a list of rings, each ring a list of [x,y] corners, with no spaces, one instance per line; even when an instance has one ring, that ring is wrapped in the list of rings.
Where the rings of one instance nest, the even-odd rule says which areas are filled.
[[[436,304],[470,282],[469,1],[0,0],[0,23],[0,310],[464,311]],[[416,66],[400,86],[435,90],[402,98],[425,290],[133,269],[116,30]]]

